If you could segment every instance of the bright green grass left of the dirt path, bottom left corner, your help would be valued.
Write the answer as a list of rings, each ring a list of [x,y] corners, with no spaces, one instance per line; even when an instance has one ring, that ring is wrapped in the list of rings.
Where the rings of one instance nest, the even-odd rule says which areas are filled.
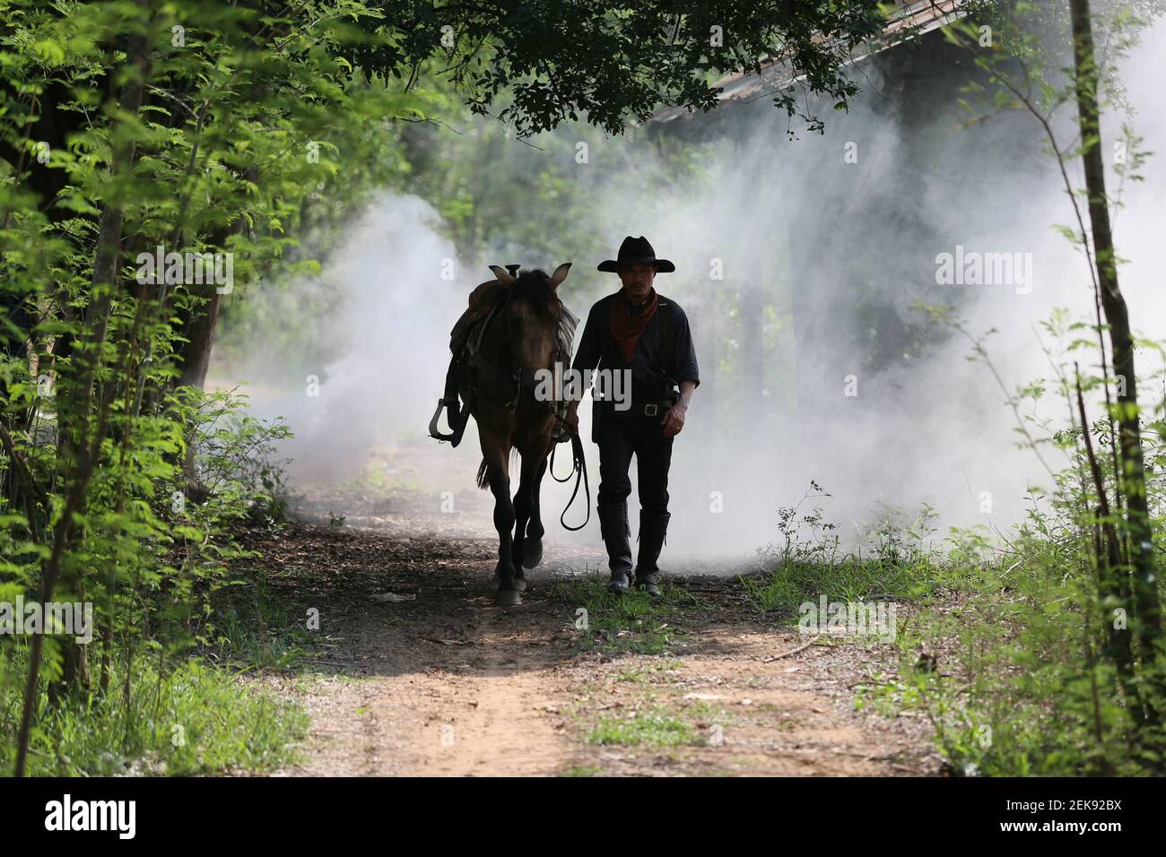
[[[305,647],[318,634],[308,630],[304,609],[259,575],[213,592],[210,606],[208,617],[190,625],[195,645],[180,654],[160,659],[156,640],[138,641],[128,705],[124,640],[113,646],[105,695],[94,674],[87,694],[50,704],[51,668],[42,668],[27,773],[195,775],[294,764],[308,715],[246,674],[310,669]],[[0,775],[14,770],[26,672],[26,646],[6,646],[0,653]]]

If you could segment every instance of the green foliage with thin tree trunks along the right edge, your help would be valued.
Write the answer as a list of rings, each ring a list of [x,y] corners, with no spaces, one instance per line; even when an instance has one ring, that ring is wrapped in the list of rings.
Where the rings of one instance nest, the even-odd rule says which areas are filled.
[[[1021,445],[1037,455],[1049,478],[1044,490],[1033,491],[1028,519],[1005,539],[1014,562],[997,578],[1010,578],[1000,591],[1014,593],[1007,599],[1014,609],[1004,612],[1017,619],[1011,637],[976,661],[979,672],[964,696],[953,696],[947,687],[928,687],[929,694],[916,688],[941,743],[969,771],[1161,768],[1166,639],[1158,572],[1163,545],[1156,538],[1166,499],[1161,405],[1151,412],[1145,399],[1139,402],[1137,388],[1153,372],[1136,368],[1135,353],[1140,346],[1160,357],[1163,346],[1147,346],[1131,332],[1110,234],[1110,210],[1121,208],[1125,182],[1139,181],[1145,155],[1123,126],[1115,159],[1119,182],[1112,194],[1098,150],[1100,111],[1132,112],[1115,61],[1161,10],[1159,3],[1107,5],[1103,12],[1095,6],[1090,12],[1088,3],[977,2],[968,16],[944,28],[988,79],[986,86],[968,87],[969,112],[1024,110],[1044,131],[1075,216],[1074,224],[1055,229],[1082,252],[1097,305],[1095,324],[1054,314],[1044,325],[1055,340],[1044,346],[1054,378],[1016,392],[1004,388],[984,337],[948,319],[971,340],[974,359],[1000,382]],[[1076,108],[1075,139],[1066,140],[1061,131],[1056,114],[1065,105]],[[1086,189],[1070,178],[1077,160],[1084,164]],[[1093,366],[1100,373],[1091,373]],[[1067,426],[1021,407],[1049,392],[1065,400]],[[1090,420],[1087,401],[1096,406],[1098,399],[1101,419]],[[1054,466],[1046,454],[1063,457],[1066,466]],[[985,705],[993,696],[1006,704]],[[983,732],[977,742],[969,738],[971,728]]]

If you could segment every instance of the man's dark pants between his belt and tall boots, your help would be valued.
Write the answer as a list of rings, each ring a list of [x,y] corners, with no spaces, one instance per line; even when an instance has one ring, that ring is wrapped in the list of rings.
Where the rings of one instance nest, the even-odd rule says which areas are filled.
[[[599,497],[597,505],[614,506],[627,501],[632,492],[628,469],[635,455],[640,508],[645,514],[668,512],[668,466],[674,437],[663,434],[661,420],[609,412],[599,429]]]

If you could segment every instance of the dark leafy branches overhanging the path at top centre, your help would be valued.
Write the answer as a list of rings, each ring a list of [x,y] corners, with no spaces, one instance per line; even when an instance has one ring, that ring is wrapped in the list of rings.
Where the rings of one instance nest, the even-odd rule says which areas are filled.
[[[842,68],[849,48],[885,23],[876,0],[844,6],[709,0],[682,9],[663,0],[632,6],[507,0],[471,7],[469,14],[462,8],[426,10],[435,24],[450,24],[452,38],[442,43],[445,68],[477,113],[492,112],[499,96],[512,94],[498,115],[522,135],[581,117],[619,134],[630,117],[646,120],[661,104],[708,111],[718,93],[710,79],[742,68],[759,71],[768,59],[788,62],[809,89],[845,104],[857,91]],[[461,14],[463,20],[449,20]],[[427,35],[436,48],[440,31]],[[793,115],[799,92],[787,87],[774,104]]]

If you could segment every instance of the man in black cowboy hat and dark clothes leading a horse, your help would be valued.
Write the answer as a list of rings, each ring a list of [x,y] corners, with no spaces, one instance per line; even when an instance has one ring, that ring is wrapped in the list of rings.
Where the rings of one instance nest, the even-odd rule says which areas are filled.
[[[660,595],[658,559],[668,531],[668,468],[673,438],[684,428],[693,391],[701,382],[688,317],[674,301],[653,287],[658,273],[676,269],[656,259],[644,236],[627,236],[614,260],[599,271],[619,275],[619,291],[599,300],[588,314],[571,368],[607,370],[631,375],[631,408],[596,399],[591,437],[599,444],[599,529],[607,548],[607,589],[637,588]],[[679,386],[679,392],[676,387]],[[592,393],[592,399],[595,399]],[[578,401],[567,410],[567,423],[578,429]],[[640,492],[640,550],[632,569],[627,496],[628,468],[635,456]]]

